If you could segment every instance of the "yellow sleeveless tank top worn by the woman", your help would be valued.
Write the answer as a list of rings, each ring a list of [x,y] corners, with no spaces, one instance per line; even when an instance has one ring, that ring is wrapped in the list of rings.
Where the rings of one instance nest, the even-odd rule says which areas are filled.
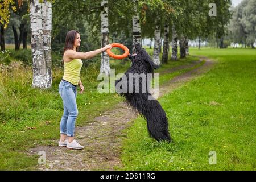
[[[62,77],[63,80],[69,81],[73,85],[78,85],[81,68],[81,59],[73,59],[72,61],[64,62],[64,76]]]

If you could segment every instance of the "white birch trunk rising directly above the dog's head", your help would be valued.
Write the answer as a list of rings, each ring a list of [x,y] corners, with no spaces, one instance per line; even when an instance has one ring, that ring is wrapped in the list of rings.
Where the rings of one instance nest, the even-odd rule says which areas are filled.
[[[135,15],[133,15],[133,47],[134,44],[141,44],[141,24],[139,23],[139,12],[137,10],[138,7],[138,1],[133,0],[135,6],[134,11]]]

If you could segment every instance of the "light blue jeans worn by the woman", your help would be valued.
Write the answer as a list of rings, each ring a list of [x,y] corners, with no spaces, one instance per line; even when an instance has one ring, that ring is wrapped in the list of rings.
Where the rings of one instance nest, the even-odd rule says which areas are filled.
[[[61,80],[59,94],[63,100],[64,113],[60,121],[60,133],[74,137],[76,118],[78,115],[76,105],[76,86]]]

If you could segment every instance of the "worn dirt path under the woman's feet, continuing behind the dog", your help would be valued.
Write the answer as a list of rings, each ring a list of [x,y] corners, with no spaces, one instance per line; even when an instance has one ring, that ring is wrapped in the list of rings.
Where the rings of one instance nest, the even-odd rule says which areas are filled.
[[[163,96],[183,85],[184,82],[207,72],[213,61],[206,57],[200,57],[200,61],[162,72],[163,74],[192,68],[196,64],[200,64],[203,59],[206,60],[204,65],[176,76],[160,88],[159,96]],[[121,154],[122,139],[126,137],[123,129],[129,127],[135,118],[137,118],[137,114],[120,102],[113,110],[106,111],[100,117],[94,118],[89,125],[76,127],[76,139],[85,146],[83,150],[68,150],[65,147],[58,147],[58,140],[56,140],[56,146],[32,148],[29,154],[38,155],[39,151],[46,152],[46,164],[38,165],[39,170],[114,170],[115,167],[122,167],[119,155]]]

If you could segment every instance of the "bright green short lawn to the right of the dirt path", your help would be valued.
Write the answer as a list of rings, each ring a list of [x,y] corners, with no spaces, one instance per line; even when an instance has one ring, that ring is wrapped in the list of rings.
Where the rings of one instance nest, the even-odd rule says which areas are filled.
[[[255,170],[256,51],[210,49],[217,61],[202,77],[160,98],[174,142],[148,137],[139,117],[123,143],[124,170]],[[216,164],[212,162],[216,154]]]

